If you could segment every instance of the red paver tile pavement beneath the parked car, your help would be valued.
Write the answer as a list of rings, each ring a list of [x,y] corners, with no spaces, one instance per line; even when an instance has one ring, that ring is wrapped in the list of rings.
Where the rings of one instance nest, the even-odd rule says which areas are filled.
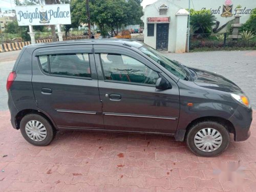
[[[256,191],[255,121],[247,141],[204,158],[159,135],[60,131],[38,147],[9,119],[0,112],[0,191]]]

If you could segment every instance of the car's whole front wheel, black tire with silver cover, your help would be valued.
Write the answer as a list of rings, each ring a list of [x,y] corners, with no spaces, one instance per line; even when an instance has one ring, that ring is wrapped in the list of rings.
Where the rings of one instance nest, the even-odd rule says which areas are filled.
[[[215,157],[228,147],[229,132],[225,125],[215,121],[198,122],[187,132],[186,143],[198,156]]]

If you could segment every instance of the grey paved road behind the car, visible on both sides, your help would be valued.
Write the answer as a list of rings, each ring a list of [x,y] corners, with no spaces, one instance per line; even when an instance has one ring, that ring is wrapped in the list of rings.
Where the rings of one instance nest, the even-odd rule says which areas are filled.
[[[0,53],[0,111],[8,109],[6,79],[20,51]],[[232,80],[248,95],[256,109],[256,51],[164,53],[186,66],[216,72]]]

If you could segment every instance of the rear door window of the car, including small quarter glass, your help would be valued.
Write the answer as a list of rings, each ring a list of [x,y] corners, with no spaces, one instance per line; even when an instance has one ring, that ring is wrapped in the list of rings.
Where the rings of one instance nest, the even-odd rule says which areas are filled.
[[[48,56],[39,56],[42,70],[49,74],[75,77],[91,77],[91,68],[88,54],[53,54],[49,55],[50,69],[48,69]],[[46,64],[45,64],[46,63]]]

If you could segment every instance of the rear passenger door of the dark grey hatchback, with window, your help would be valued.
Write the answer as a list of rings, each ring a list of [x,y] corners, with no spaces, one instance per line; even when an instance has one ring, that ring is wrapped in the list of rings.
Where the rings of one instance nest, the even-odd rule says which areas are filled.
[[[92,45],[36,49],[32,85],[37,107],[59,128],[102,129]]]

